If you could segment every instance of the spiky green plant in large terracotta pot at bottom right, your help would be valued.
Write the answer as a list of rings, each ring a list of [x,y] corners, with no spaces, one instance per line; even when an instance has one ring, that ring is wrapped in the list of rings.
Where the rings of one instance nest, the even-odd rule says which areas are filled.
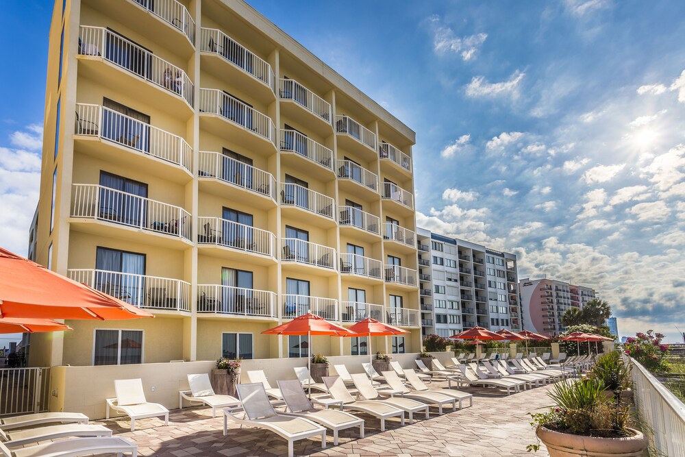
[[[542,441],[551,457],[645,455],[647,439],[628,427],[628,407],[603,395],[605,388],[596,377],[555,384],[547,393],[554,405],[531,414],[539,441],[527,449],[537,451]]]

